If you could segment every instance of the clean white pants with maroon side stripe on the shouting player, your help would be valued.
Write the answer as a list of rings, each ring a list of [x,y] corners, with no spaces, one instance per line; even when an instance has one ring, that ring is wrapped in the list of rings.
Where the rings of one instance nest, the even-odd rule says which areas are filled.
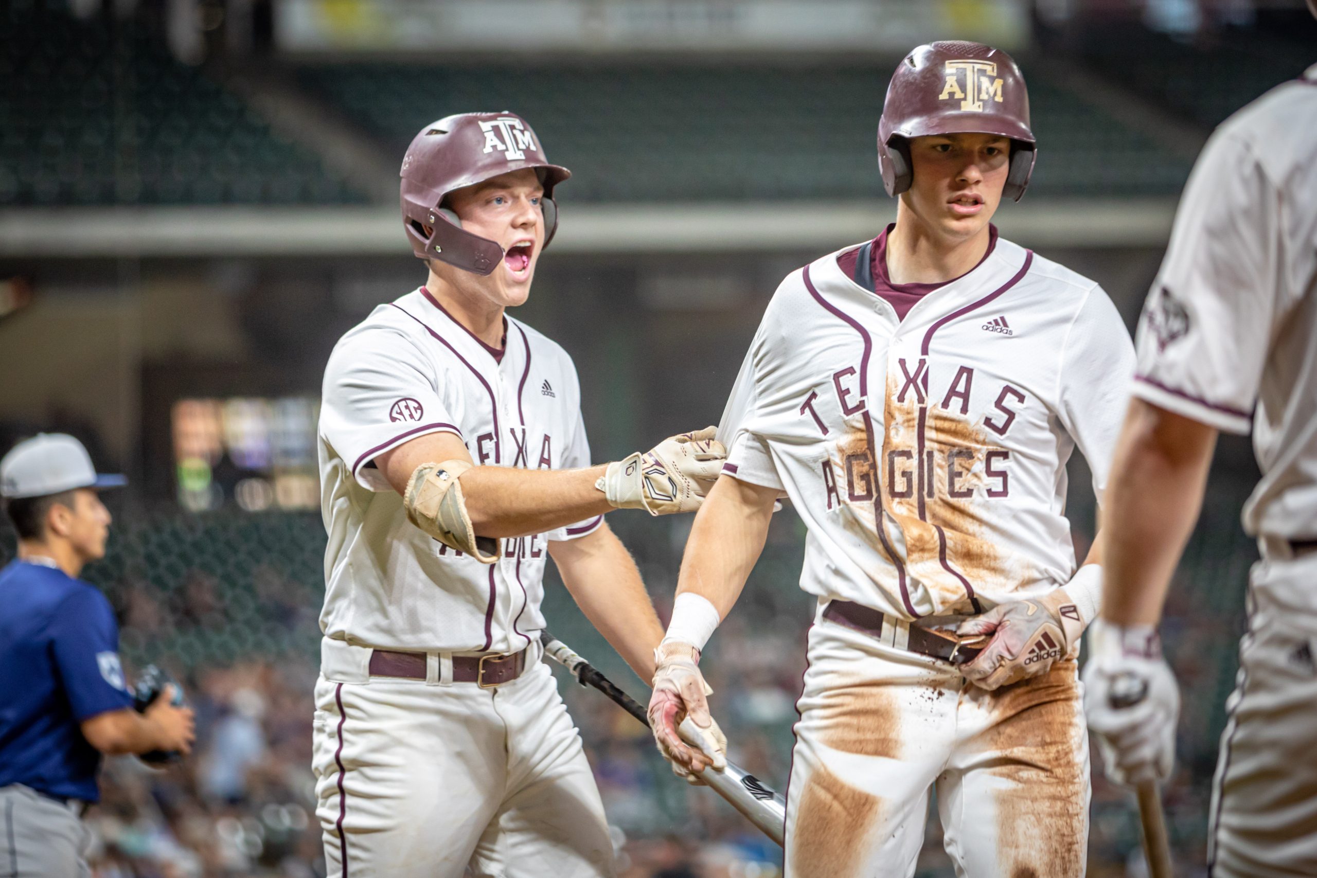
[[[497,688],[321,673],[316,708],[331,878],[614,874],[594,775],[543,662]]]

